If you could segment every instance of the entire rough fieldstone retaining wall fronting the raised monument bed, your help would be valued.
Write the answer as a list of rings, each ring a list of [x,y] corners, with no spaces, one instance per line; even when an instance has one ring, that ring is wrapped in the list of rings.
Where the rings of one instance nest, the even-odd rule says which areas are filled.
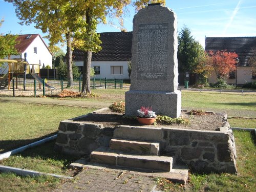
[[[196,172],[237,172],[236,146],[228,122],[220,127],[220,131],[199,131],[166,127],[111,128],[65,120],[59,124],[55,148],[69,155],[89,155],[100,146],[109,147],[113,134],[114,138],[122,135],[131,140],[159,142],[161,156],[173,157],[176,164],[185,163]]]

